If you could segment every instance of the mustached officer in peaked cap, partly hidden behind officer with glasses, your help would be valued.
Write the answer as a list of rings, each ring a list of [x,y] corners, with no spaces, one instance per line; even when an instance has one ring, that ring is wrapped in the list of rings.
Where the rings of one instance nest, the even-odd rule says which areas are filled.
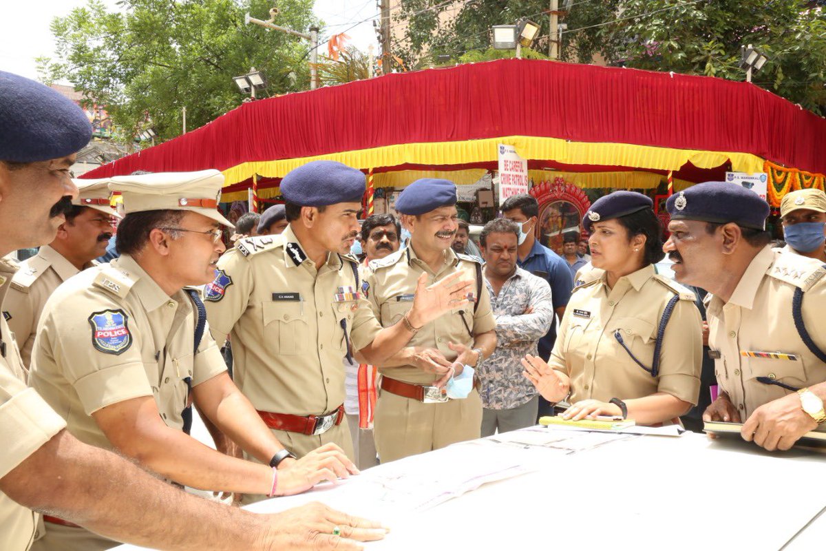
[[[37,321],[46,299],[60,283],[97,264],[95,259],[106,252],[112,237],[112,216],[118,216],[109,203],[107,178],[74,183],[78,197],[72,200],[73,207],[66,213],[55,240],[21,263],[3,302],[3,316],[21,344],[20,355],[26,367],[31,363]]]

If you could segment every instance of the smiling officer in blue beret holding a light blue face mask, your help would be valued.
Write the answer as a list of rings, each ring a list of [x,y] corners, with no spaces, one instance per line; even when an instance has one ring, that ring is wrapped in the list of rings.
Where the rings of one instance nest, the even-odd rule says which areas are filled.
[[[382,462],[479,438],[482,401],[470,377],[465,392],[452,399],[444,387],[459,378],[464,366],[477,368],[496,347],[491,297],[482,282],[482,264],[451,248],[456,235],[456,186],[424,178],[407,186],[396,200],[411,244],[370,263],[368,300],[385,327],[406,324],[416,282],[439,281],[463,273],[474,282],[474,302],[432,323],[410,326],[411,346],[390,361],[377,363],[382,373],[376,405],[375,438]],[[469,391],[469,393],[468,393]]]

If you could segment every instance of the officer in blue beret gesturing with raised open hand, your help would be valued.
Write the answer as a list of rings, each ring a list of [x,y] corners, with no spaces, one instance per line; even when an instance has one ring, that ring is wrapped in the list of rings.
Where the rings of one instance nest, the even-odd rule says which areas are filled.
[[[425,288],[423,277],[408,291],[406,323],[382,330],[361,296],[358,262],[347,255],[364,189],[363,173],[333,161],[292,170],[281,182],[287,229],[240,240],[205,292],[212,334],[222,342],[231,332],[235,381],[298,456],[335,443],[352,457],[342,423],[342,359],[351,359],[350,349],[380,364],[414,327],[468,300],[470,282]]]

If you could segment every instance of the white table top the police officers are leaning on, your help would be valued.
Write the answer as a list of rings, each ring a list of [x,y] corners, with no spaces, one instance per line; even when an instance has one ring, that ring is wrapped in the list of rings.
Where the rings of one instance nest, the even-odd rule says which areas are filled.
[[[496,454],[541,467],[425,511],[364,497],[382,469],[416,473],[425,464],[434,468],[442,458],[472,464]],[[567,455],[475,441],[380,465],[335,487],[316,487],[250,509],[274,512],[321,501],[382,520],[392,532],[381,542],[366,544],[370,551],[757,551],[781,549],[791,539],[787,549],[824,549],[826,515],[811,522],[826,507],[824,463],[826,456],[804,450],[769,454],[754,444],[710,441],[691,433],[636,436]]]

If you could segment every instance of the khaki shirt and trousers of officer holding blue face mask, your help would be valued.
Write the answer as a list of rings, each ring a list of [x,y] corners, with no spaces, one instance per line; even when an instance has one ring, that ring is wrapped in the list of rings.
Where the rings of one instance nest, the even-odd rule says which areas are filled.
[[[435,272],[416,257],[412,247],[374,260],[370,268],[373,273],[367,277],[368,301],[373,314],[384,327],[399,323],[411,309],[416,283],[422,272],[428,275],[427,285],[457,271],[462,272],[465,279],[480,283],[477,281],[477,259],[456,254],[453,249],[444,251],[444,263]],[[476,311],[474,304],[469,303],[440,316],[424,325],[407,345],[439,349],[450,361],[458,355],[448,347],[450,342],[472,347],[473,335],[496,327],[487,287],[477,284],[474,295],[477,290],[480,292]],[[411,365],[393,368],[379,366],[379,372],[384,378],[416,385],[433,385],[438,380],[433,373],[425,373]],[[476,389],[463,400],[442,403],[425,403],[380,390],[374,423],[376,449],[382,463],[387,463],[444,448],[454,442],[477,439],[481,425],[482,401]]]

